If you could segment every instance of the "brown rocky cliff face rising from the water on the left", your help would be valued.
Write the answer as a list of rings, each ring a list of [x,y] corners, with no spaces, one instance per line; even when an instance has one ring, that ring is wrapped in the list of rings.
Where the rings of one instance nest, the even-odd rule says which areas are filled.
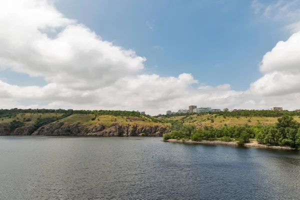
[[[0,124],[0,135],[99,135],[99,136],[162,136],[164,132],[168,132],[169,128],[157,125],[142,124],[120,124],[113,123],[107,127],[102,124],[90,125],[74,123],[71,125],[62,122],[51,123],[39,127],[34,131],[34,126],[25,125],[18,127],[13,131],[9,131],[8,124]]]

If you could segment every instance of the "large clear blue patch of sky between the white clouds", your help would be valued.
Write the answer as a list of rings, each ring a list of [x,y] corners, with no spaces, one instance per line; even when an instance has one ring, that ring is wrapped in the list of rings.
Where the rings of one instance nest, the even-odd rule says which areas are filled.
[[[201,83],[229,83],[232,89],[244,90],[261,76],[258,63],[264,53],[288,38],[282,25],[255,14],[251,3],[60,0],[56,6],[102,39],[145,56],[146,73],[192,73]]]

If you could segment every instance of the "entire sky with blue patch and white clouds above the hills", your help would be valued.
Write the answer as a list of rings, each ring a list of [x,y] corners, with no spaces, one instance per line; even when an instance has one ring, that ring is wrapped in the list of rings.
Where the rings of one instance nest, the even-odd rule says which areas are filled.
[[[0,1],[0,108],[300,108],[300,0]]]

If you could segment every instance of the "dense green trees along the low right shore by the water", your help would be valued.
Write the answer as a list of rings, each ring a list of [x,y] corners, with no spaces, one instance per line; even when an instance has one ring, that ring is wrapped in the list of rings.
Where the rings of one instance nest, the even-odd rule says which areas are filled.
[[[249,142],[250,138],[256,138],[258,143],[266,145],[290,146],[300,148],[300,123],[292,116],[284,115],[278,118],[274,125],[262,125],[257,122],[255,125],[245,123],[243,126],[220,127],[204,126],[196,128],[195,125],[184,125],[181,121],[170,121],[171,132],[163,134],[163,139],[191,139],[215,140],[219,138],[222,141],[236,140],[238,144],[243,145]]]

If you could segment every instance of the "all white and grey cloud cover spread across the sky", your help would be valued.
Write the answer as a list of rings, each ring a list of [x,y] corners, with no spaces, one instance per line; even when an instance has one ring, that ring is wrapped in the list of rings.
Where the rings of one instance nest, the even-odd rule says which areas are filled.
[[[258,11],[262,9],[257,6]],[[296,108],[299,104],[294,98],[300,97],[299,46],[299,33],[278,42],[262,58],[263,76],[249,89],[236,91],[229,84],[205,85],[189,73],[142,74],[145,57],[105,41],[83,24],[66,18],[52,1],[0,1],[0,67],[39,76],[47,82],[44,86],[19,86],[1,78],[0,105],[144,110],[150,114],[189,104]],[[22,100],[33,103],[24,106]],[[40,106],[34,102],[50,103]]]

